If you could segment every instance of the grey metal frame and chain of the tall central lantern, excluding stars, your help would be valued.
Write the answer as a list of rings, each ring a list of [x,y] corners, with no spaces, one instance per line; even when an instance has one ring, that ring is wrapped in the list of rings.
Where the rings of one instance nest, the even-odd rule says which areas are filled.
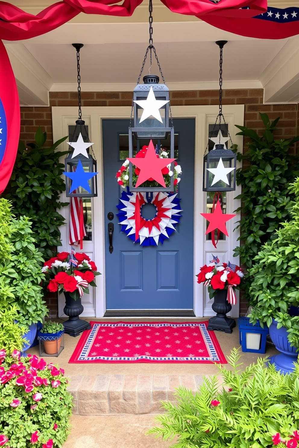
[[[156,48],[153,45],[153,40],[152,40],[152,0],[149,0],[149,45],[147,47],[147,50],[145,52],[145,56],[143,59],[143,64],[139,73],[139,78],[137,80],[137,86],[134,88],[133,91],[133,101],[132,101],[132,110],[131,110],[131,117],[130,117],[130,126],[129,126],[129,158],[133,158],[134,157],[134,145],[133,145],[133,140],[134,138],[138,141],[138,140],[144,140],[148,138],[148,143],[150,142],[150,140],[154,139],[154,140],[160,140],[160,139],[165,139],[165,138],[169,138],[170,135],[170,155],[169,158],[174,159],[174,128],[173,128],[173,120],[172,120],[172,115],[171,115],[171,108],[170,108],[170,103],[169,103],[169,89],[166,86],[165,83],[165,78],[162,72],[162,69],[160,67],[160,62],[158,60],[158,56],[156,54]],[[154,53],[154,56],[156,58],[156,62],[157,65],[159,67],[159,71],[160,71],[160,75],[161,78],[163,80],[163,84],[159,84],[159,77],[157,77],[156,75],[147,75],[145,77],[143,77],[143,82],[144,84],[139,84],[140,82],[140,78],[143,72],[143,68],[145,65],[145,61],[147,59],[147,54],[148,52],[150,53],[150,69],[152,67],[152,52]],[[150,72],[149,69],[149,72]],[[140,123],[138,122],[138,111],[140,108],[140,106],[138,106],[138,104],[134,103],[134,100],[140,100],[142,98],[146,99],[148,92],[150,90],[150,88],[153,88],[153,92],[155,95],[155,98],[163,98],[165,100],[168,101],[168,103],[165,104],[165,106],[162,106],[162,108],[160,108],[161,110],[164,110],[165,113],[165,123],[163,123],[162,125],[158,125],[158,126],[152,126],[152,127],[148,127],[145,126],[146,123],[144,123],[144,125],[140,125]],[[134,111],[134,127],[131,127],[131,122],[132,122],[132,116],[133,116],[133,111]],[[171,122],[171,126],[169,126],[169,115],[170,115],[170,122]],[[162,118],[162,117],[161,117]],[[144,120],[145,122],[148,119]],[[159,123],[159,121],[157,121],[155,118],[153,118],[153,120],[156,121],[156,123]],[[162,118],[163,120],[163,118]],[[148,123],[148,121],[147,121]],[[174,189],[174,185],[173,185],[173,181],[174,178],[173,176],[170,178],[170,185],[169,187],[163,187],[162,185],[157,187],[157,186],[152,186],[152,187],[134,187],[133,186],[133,165],[132,162],[130,162],[129,164],[129,188],[130,191],[143,191],[143,192],[160,192],[160,191],[165,191],[165,192],[171,192]],[[173,171],[174,170],[174,162],[172,162],[170,164],[170,169]]]

